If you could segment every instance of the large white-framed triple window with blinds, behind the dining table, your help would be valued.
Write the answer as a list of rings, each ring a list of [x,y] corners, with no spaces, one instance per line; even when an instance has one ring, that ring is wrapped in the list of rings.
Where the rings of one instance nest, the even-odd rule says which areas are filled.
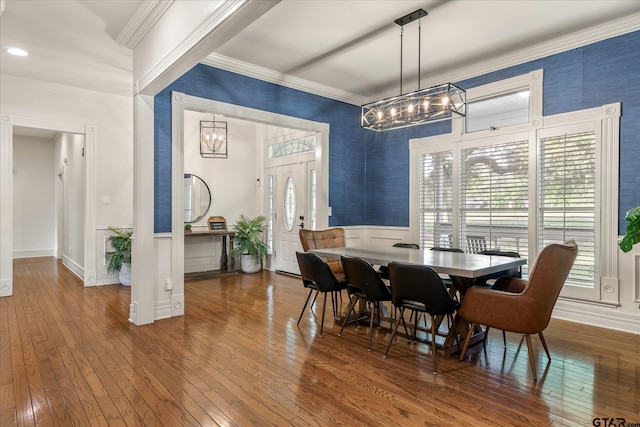
[[[488,86],[499,95],[520,83]],[[621,106],[542,117],[541,81],[531,87],[526,124],[473,133],[452,124],[451,134],[410,141],[411,229],[425,248],[516,251],[529,267],[544,246],[573,239],[578,258],[561,296],[618,305]]]

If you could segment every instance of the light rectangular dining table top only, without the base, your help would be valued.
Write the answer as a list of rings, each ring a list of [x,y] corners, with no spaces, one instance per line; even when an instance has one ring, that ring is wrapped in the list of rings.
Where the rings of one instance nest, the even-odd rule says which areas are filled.
[[[357,257],[375,265],[388,265],[393,261],[428,265],[438,273],[468,279],[499,273],[527,263],[526,258],[383,246],[318,248],[309,252],[324,258]]]

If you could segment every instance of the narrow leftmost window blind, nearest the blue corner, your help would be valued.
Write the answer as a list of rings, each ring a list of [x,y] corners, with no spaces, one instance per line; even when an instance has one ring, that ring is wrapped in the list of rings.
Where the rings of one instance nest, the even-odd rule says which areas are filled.
[[[452,247],[453,153],[422,154],[419,169],[420,247]]]

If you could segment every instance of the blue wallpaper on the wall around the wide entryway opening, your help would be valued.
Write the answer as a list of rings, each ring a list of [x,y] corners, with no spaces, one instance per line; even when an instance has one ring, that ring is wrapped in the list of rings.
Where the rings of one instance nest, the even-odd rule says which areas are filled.
[[[364,134],[360,107],[197,65],[156,95],[156,233],[171,230],[171,91],[317,122],[328,123],[330,225],[364,224]]]

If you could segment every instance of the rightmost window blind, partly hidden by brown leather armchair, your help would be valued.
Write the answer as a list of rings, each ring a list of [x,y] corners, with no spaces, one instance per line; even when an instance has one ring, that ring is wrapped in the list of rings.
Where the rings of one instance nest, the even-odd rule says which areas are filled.
[[[540,138],[539,247],[573,239],[578,258],[566,285],[594,287],[596,134]]]

